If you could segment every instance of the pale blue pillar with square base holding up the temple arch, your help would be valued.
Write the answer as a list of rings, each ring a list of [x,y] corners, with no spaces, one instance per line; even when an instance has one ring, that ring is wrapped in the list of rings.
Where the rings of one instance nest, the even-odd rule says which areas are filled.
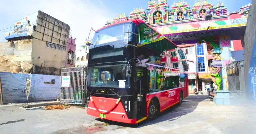
[[[231,63],[231,42],[228,35],[219,36],[219,47],[221,50],[221,70],[219,72],[219,77],[222,79],[220,85],[220,91],[216,91],[216,96],[213,101],[216,105],[229,105],[230,97],[228,90],[228,79],[227,79],[227,68],[226,65]]]

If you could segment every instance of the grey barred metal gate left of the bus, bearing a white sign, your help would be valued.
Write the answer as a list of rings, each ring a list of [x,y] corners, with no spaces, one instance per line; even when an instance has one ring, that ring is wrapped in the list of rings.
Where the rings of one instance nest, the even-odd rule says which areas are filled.
[[[70,86],[62,87],[60,103],[65,104],[87,104],[87,66],[68,66],[61,68],[61,76],[70,76]]]

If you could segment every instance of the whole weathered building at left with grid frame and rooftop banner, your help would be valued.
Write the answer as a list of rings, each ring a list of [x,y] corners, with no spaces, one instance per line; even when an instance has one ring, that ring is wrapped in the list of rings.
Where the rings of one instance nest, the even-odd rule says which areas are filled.
[[[38,11],[36,25],[29,19],[16,22],[6,34],[8,42],[0,43],[0,71],[60,75],[68,53],[75,57],[75,40],[69,38],[69,25],[42,11]]]

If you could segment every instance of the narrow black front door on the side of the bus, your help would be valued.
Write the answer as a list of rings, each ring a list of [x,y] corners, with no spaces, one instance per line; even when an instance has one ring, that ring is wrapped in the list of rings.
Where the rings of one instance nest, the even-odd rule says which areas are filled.
[[[137,67],[137,120],[146,117],[147,67]]]

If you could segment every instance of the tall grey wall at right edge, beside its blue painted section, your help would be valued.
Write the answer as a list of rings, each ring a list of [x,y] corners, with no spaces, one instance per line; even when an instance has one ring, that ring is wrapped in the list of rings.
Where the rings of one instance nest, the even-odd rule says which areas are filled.
[[[248,96],[252,97],[252,94],[250,94],[251,89],[248,85],[248,72],[250,67],[250,58],[254,46],[255,41],[255,33],[256,33],[256,1],[252,0],[252,6],[251,10],[248,14],[247,24],[246,24],[246,30],[245,30],[245,36],[244,36],[244,78],[246,82],[246,94]],[[242,43],[243,44],[243,43]]]

